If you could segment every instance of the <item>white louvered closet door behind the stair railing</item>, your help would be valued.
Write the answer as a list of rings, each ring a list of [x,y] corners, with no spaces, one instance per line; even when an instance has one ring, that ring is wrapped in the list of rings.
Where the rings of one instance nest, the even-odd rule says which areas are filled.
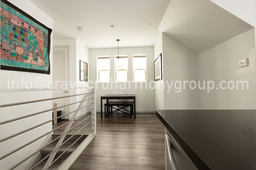
[[[52,81],[54,89],[62,89],[66,87],[68,82],[68,47],[54,47],[53,48],[53,62],[52,62]],[[61,97],[68,96],[69,90],[53,90],[52,96]],[[57,103],[57,107],[67,105],[69,99],[61,98],[55,99],[52,103]],[[61,107],[57,111],[61,110],[61,115],[69,112],[68,107]],[[63,116],[61,119],[69,119],[69,116]]]

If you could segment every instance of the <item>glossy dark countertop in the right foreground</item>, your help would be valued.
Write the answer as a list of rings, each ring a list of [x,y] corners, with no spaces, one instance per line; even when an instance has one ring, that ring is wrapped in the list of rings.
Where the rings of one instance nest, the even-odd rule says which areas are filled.
[[[256,110],[156,110],[198,169],[256,170]]]

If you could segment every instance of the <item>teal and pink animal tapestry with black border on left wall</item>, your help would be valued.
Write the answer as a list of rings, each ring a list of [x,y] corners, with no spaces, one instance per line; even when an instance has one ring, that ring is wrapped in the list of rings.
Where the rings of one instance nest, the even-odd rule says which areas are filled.
[[[52,29],[1,0],[1,69],[50,74],[51,33]]]

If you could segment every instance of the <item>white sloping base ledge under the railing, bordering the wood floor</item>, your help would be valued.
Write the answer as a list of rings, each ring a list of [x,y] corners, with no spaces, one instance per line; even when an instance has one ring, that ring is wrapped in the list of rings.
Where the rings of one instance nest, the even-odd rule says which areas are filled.
[[[83,152],[83,150],[86,148],[86,146],[93,140],[95,136],[92,136],[90,134],[85,141],[79,146],[78,149],[76,149],[70,157],[59,167],[59,170],[68,170],[70,166],[76,161],[76,159],[80,156],[80,154]]]

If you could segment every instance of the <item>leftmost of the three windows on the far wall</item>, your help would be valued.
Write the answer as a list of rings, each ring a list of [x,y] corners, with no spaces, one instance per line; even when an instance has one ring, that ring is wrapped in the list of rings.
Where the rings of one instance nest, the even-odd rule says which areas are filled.
[[[110,58],[109,56],[98,56],[98,82],[109,82]]]

